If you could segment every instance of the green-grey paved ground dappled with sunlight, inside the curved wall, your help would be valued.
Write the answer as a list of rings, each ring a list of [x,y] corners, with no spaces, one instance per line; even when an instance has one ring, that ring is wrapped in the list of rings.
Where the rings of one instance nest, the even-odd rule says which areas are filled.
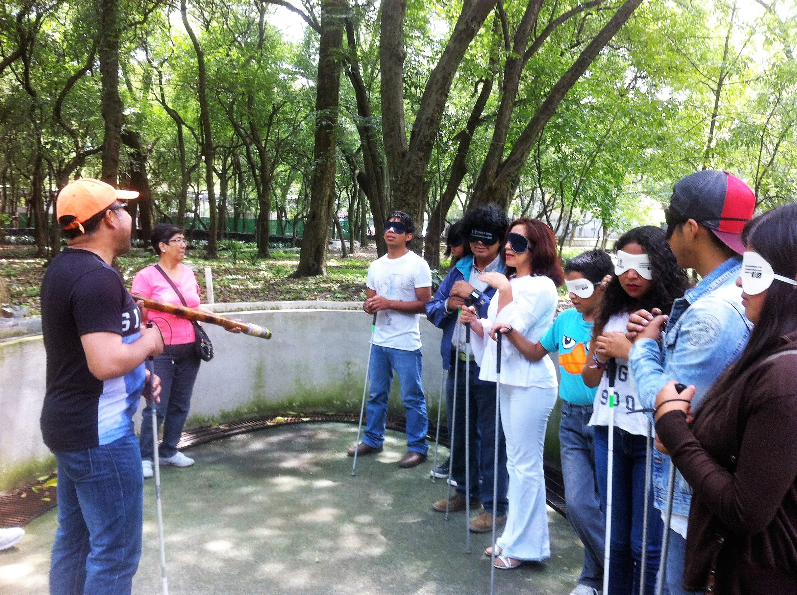
[[[430,507],[446,491],[442,480],[430,483],[430,463],[399,469],[405,438],[388,433],[384,452],[359,459],[352,478],[345,449],[355,433],[336,423],[283,426],[194,448],[194,467],[164,469],[170,592],[489,593],[489,534],[473,535],[465,554],[464,513],[446,522]],[[150,595],[160,593],[152,480],[144,502],[133,593]],[[497,571],[497,593],[570,593],[580,542],[551,508],[548,520],[552,558]],[[0,552],[0,593],[46,593],[55,527],[50,512]]]

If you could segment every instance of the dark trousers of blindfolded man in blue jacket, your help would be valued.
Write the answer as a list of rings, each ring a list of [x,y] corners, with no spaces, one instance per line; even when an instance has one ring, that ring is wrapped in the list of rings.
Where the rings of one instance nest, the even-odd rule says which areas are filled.
[[[465,382],[470,382],[470,494],[481,500],[485,511],[493,512],[493,462],[495,460],[496,386],[477,384],[478,366],[470,362],[470,378],[465,376],[465,362],[457,370],[457,420],[453,426],[451,476],[457,482],[457,491],[465,494]],[[446,383],[446,410],[453,406],[454,361],[451,361]],[[449,427],[451,427],[449,414]],[[496,515],[506,514],[509,473],[506,469],[506,440],[504,429],[498,425],[498,502]]]

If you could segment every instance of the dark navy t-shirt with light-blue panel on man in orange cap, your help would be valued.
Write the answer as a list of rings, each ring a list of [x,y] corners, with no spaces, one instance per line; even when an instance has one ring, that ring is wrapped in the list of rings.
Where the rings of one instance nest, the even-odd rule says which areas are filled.
[[[133,433],[143,391],[143,363],[120,378],[101,381],[90,370],[81,335],[110,332],[124,343],[139,339],[141,313],[119,273],[87,250],[66,248],[41,283],[41,328],[47,388],[41,435],[53,452],[109,444]]]

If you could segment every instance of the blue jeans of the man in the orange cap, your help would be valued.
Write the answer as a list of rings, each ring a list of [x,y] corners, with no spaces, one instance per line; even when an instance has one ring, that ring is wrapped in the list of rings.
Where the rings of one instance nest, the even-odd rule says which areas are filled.
[[[56,452],[58,530],[51,595],[130,593],[141,558],[143,475],[135,434]]]

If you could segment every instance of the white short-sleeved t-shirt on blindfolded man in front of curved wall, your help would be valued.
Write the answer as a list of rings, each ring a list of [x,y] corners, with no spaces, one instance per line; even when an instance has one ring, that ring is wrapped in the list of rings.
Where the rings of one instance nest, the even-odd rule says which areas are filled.
[[[368,267],[368,289],[373,289],[377,296],[386,299],[414,302],[418,299],[415,289],[431,286],[432,273],[429,264],[412,251],[398,258],[388,258],[385,254]],[[376,315],[374,345],[404,351],[420,349],[420,319],[420,314],[405,314],[395,310],[379,312]]]

